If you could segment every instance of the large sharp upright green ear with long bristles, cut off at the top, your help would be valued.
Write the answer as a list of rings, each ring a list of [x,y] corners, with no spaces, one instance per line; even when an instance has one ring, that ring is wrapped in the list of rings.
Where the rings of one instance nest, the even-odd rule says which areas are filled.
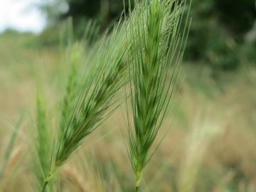
[[[134,2],[137,17],[127,33],[127,39],[134,42],[128,54],[133,117],[128,122],[128,130],[129,159],[139,190],[142,171],[154,154],[150,149],[178,78],[187,36],[182,23],[185,20],[186,26],[187,18],[184,18],[186,1]]]

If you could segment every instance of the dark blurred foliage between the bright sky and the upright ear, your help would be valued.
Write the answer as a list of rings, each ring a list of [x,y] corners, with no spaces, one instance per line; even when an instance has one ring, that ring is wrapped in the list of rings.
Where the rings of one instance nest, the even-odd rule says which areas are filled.
[[[46,3],[41,8],[48,14],[50,23],[72,17],[75,33],[81,35],[90,19],[100,23],[104,31],[110,25],[113,26],[122,14],[123,2],[128,7],[129,0],[55,0],[52,4]],[[62,10],[60,7],[67,7],[67,9]]]

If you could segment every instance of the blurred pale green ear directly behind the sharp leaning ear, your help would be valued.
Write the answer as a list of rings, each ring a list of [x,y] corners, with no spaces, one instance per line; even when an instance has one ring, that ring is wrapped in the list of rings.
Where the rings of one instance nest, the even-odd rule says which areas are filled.
[[[66,68],[68,70],[67,82],[65,85],[65,94],[62,100],[62,106],[60,109],[60,120],[59,120],[59,133],[65,129],[65,125],[68,123],[69,117],[72,116],[75,110],[75,102],[81,92],[82,87],[82,64],[84,64],[86,57],[90,57],[92,54],[92,43],[96,41],[98,27],[95,22],[88,21],[85,25],[85,33],[81,42],[75,42],[73,37],[73,23],[72,19],[69,18],[65,25],[65,40],[68,41],[66,48]]]

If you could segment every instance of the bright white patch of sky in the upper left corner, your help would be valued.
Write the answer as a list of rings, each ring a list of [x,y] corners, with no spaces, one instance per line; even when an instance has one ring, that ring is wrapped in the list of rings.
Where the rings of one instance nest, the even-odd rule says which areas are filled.
[[[40,33],[46,17],[36,8],[43,0],[0,0],[0,33],[6,28]]]

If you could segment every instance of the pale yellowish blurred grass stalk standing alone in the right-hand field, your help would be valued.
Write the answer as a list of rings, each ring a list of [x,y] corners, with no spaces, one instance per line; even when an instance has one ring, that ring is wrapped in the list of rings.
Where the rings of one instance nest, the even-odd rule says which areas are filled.
[[[223,120],[215,119],[213,115],[206,117],[205,114],[206,112],[204,115],[201,112],[192,122],[179,174],[178,191],[180,192],[195,191],[196,178],[211,140],[225,132]]]

